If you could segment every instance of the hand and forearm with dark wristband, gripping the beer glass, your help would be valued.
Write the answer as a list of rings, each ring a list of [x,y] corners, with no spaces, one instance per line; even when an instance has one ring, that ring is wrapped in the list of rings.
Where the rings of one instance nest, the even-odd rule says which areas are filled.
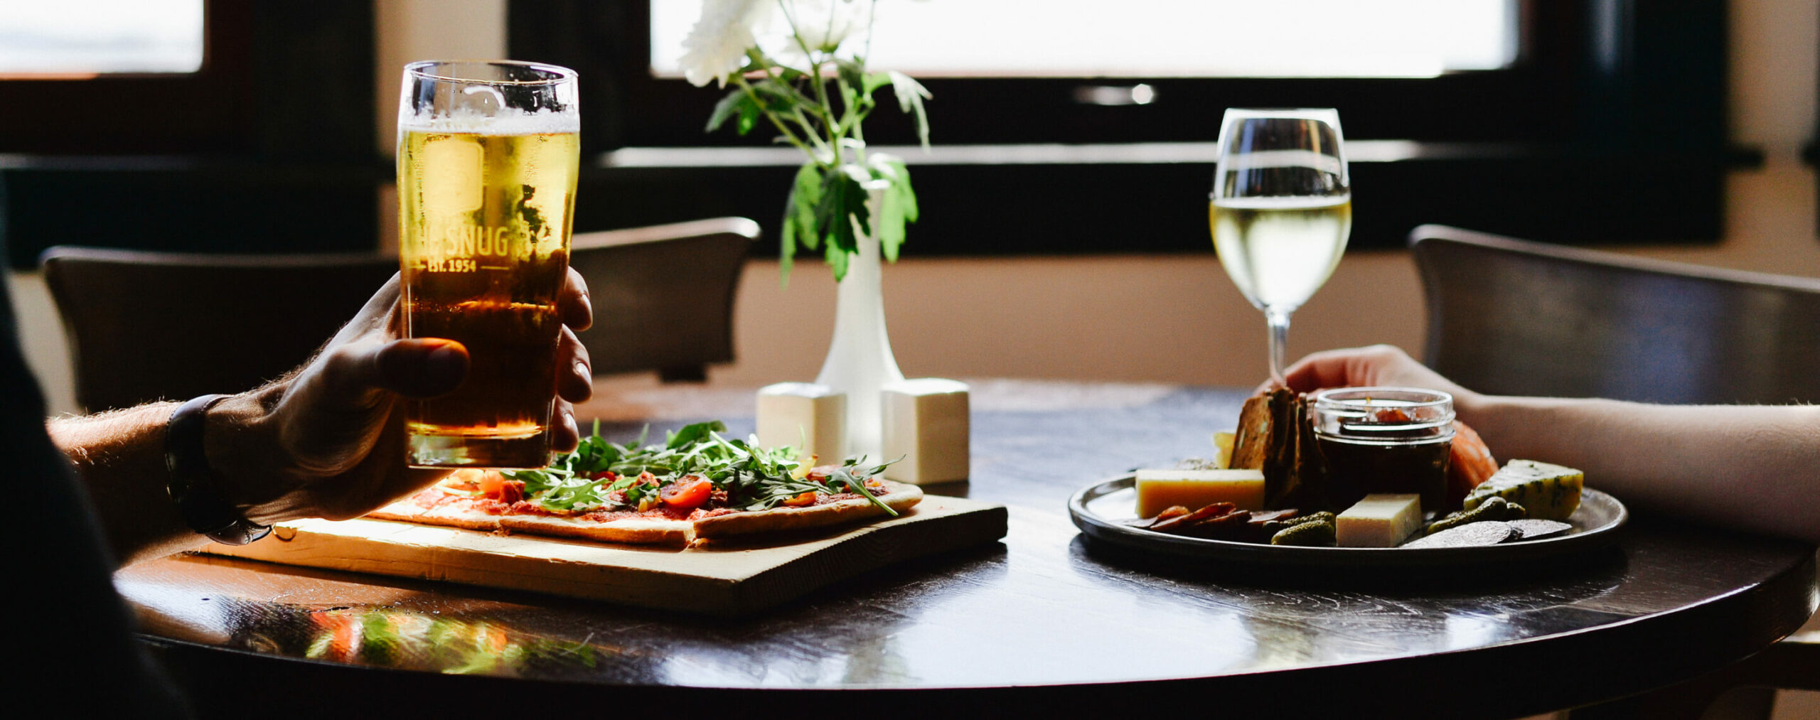
[[[406,496],[448,471],[404,464],[404,404],[453,391],[468,349],[453,340],[404,340],[393,276],[304,367],[207,411],[204,455],[224,500],[248,520],[351,518]],[[592,395],[588,351],[575,331],[593,322],[588,285],[568,271],[557,296],[551,445],[581,440],[575,402]],[[191,533],[164,496],[164,422],[177,405],[140,405],[51,420],[51,438],[76,464],[104,531],[126,562],[191,547]]]

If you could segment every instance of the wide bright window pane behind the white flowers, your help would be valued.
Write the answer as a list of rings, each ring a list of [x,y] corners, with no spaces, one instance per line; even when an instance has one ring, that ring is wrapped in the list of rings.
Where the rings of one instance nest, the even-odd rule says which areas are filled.
[[[681,76],[699,15],[652,0],[653,75]],[[1509,67],[1518,38],[1514,0],[881,0],[868,65],[956,78],[1423,78]]]

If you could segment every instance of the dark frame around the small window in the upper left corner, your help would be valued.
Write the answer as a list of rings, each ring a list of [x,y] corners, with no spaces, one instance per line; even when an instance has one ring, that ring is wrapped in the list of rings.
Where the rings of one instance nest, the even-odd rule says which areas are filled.
[[[371,0],[207,0],[197,73],[0,80],[0,236],[200,253],[379,247]]]

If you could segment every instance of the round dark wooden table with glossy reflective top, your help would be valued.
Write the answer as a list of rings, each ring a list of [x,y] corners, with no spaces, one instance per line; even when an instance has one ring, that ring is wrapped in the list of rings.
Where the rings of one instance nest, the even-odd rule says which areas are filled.
[[[752,429],[750,389],[601,395],[579,415],[602,416],[602,435],[708,416]],[[1225,569],[1076,531],[1070,493],[1210,455],[1210,433],[1232,427],[1243,396],[976,382],[974,476],[930,491],[1008,505],[1005,540],[743,620],[202,555],[138,564],[115,582],[204,716],[561,707],[1507,718],[1727,665],[1820,604],[1815,547],[1638,507],[1613,547],[1587,556],[1390,575]]]

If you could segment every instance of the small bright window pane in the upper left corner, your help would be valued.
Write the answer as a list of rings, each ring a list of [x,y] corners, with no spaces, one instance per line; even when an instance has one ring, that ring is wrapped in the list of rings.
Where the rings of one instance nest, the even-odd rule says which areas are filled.
[[[0,75],[195,73],[204,0],[0,4]]]

